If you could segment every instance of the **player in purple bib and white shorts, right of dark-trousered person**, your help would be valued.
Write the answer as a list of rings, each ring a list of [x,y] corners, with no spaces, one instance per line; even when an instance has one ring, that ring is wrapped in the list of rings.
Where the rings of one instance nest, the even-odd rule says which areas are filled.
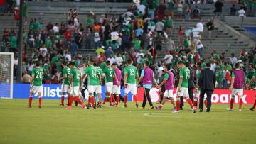
[[[174,73],[171,72],[171,65],[166,65],[164,67],[164,80],[161,82],[159,87],[156,87],[157,89],[160,89],[163,85],[165,87],[165,92],[164,92],[164,99],[161,102],[160,106],[157,106],[156,109],[161,110],[161,108],[164,106],[167,98],[171,99],[171,104],[173,105],[173,111],[175,111],[175,102],[174,102]]]

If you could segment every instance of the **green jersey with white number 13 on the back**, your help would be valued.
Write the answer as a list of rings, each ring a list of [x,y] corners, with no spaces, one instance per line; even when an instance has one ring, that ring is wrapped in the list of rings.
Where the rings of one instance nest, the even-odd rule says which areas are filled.
[[[137,67],[128,65],[124,68],[124,74],[127,74],[127,84],[136,84],[136,75],[139,74]]]

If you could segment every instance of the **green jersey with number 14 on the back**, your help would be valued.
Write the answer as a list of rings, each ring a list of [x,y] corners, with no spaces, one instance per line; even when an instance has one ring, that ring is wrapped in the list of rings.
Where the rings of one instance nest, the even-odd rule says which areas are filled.
[[[85,69],[85,74],[87,75],[87,84],[90,86],[95,86],[97,84],[97,68],[93,65],[90,65]]]

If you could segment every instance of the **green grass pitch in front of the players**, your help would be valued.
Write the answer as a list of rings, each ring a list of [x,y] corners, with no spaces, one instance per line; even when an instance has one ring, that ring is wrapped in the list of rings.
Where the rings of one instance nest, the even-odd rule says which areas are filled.
[[[213,104],[210,113],[171,113],[105,107],[66,110],[59,101],[43,100],[42,109],[28,109],[27,99],[0,99],[0,143],[255,143],[256,111],[226,111],[227,104]],[[107,104],[106,104],[107,105]],[[156,105],[156,104],[155,104]]]

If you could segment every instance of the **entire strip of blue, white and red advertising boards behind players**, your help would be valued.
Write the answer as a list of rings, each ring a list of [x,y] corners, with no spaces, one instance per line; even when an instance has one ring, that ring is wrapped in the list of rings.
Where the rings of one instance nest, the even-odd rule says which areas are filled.
[[[85,96],[87,96],[85,92]],[[124,89],[121,89],[121,94],[124,96]],[[137,100],[143,101],[143,88],[138,88]],[[29,84],[14,84],[14,99],[28,99],[29,96]],[[35,97],[38,95],[35,94]],[[43,85],[43,99],[60,99],[61,85],[58,84],[45,84]],[[153,102],[160,101],[159,90],[152,88],[150,91],[151,100]],[[66,97],[66,96],[65,96]],[[105,87],[102,86],[102,97],[105,97]],[[174,97],[176,97],[176,89],[174,89]],[[229,89],[215,89],[212,95],[212,102],[215,104],[228,104],[230,102],[230,90]],[[128,101],[132,101],[132,96],[129,94]],[[255,91],[245,90],[242,96],[243,104],[253,104],[255,101]],[[238,96],[235,97],[235,103],[238,103]]]

